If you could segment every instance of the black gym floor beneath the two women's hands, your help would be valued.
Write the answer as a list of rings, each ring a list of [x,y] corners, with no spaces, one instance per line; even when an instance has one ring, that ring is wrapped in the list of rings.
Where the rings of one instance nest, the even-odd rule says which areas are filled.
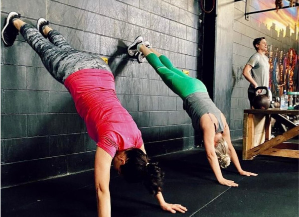
[[[233,141],[242,159],[242,140]],[[142,184],[128,184],[112,169],[112,217],[298,217],[298,159],[257,156],[222,170],[237,188],[219,185],[203,148],[152,158],[165,172],[168,203],[187,207],[185,214],[162,211]],[[1,217],[96,217],[93,171],[1,189]]]

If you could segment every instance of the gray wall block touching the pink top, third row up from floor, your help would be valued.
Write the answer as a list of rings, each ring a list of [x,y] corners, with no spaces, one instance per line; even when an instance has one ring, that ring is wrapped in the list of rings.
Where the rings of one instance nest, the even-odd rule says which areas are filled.
[[[85,132],[79,114],[28,114],[28,136]]]

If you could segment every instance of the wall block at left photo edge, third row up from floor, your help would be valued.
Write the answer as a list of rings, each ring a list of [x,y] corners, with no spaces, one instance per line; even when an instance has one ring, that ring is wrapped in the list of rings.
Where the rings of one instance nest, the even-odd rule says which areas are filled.
[[[25,136],[27,136],[26,114],[1,115],[1,139]]]

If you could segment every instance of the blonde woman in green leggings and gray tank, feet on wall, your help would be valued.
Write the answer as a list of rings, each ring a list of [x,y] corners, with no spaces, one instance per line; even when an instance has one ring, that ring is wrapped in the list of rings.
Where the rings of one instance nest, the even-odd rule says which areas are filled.
[[[220,166],[226,168],[230,161],[241,175],[258,175],[241,168],[226,119],[212,102],[205,85],[200,80],[191,78],[175,68],[166,56],[154,50],[149,42],[144,42],[142,36],[138,36],[129,46],[128,53],[131,56],[138,55],[141,63],[146,58],[164,83],[183,100],[183,108],[191,117],[194,129],[200,130],[203,134],[208,161],[220,184],[238,186],[234,181],[225,179],[221,173]]]

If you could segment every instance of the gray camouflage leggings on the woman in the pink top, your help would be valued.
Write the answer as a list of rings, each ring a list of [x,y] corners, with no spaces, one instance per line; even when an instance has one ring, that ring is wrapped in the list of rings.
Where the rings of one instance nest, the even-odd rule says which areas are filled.
[[[70,74],[81,69],[105,69],[111,72],[102,58],[72,48],[54,29],[47,35],[49,41],[30,24],[22,25],[20,33],[39,55],[46,69],[62,84]]]

